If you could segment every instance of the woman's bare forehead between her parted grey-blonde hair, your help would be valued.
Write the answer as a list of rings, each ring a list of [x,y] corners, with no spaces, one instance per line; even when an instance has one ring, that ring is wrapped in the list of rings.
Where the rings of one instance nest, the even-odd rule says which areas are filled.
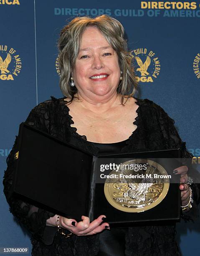
[[[87,27],[82,36],[80,51],[85,48],[97,48],[102,46],[110,45],[99,29],[96,27]]]

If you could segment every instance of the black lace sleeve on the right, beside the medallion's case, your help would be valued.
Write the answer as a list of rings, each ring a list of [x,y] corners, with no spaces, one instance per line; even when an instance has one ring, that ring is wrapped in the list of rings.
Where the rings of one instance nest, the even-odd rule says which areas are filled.
[[[192,162],[193,155],[187,151],[185,142],[182,142],[174,123],[175,121],[170,118],[162,108],[159,107],[159,125],[162,130],[165,145],[167,145],[167,148],[178,148],[182,145],[181,158],[191,159]],[[185,221],[194,222],[199,216],[198,204],[200,202],[200,174],[197,170],[195,170],[195,168],[192,167],[192,164],[190,164],[188,168],[189,170],[187,175],[195,180],[195,183],[193,183],[191,186],[194,202],[192,204],[192,208],[188,212],[182,211],[181,217]]]

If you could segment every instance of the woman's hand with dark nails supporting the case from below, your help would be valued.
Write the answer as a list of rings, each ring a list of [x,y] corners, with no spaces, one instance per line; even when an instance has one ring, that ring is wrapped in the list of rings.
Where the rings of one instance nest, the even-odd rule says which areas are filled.
[[[106,218],[105,215],[100,215],[96,220],[93,220],[90,223],[89,217],[84,215],[81,216],[81,220],[77,222],[73,219],[68,219],[65,217],[59,217],[59,223],[61,228],[65,228],[69,230],[71,233],[76,236],[89,236],[94,235],[96,233],[100,233],[104,229],[110,229],[109,224],[102,221]],[[101,224],[102,223],[102,224]]]

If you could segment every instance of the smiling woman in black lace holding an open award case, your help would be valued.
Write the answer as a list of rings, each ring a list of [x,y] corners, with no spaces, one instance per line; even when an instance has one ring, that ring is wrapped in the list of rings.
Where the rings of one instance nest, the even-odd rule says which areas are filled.
[[[178,148],[182,141],[165,111],[132,97],[136,82],[123,34],[121,23],[106,15],[75,18],[64,27],[58,47],[65,97],[39,104],[26,123],[92,154]],[[110,230],[106,215],[77,222],[15,198],[10,186],[17,143],[8,156],[4,192],[10,211],[33,233],[33,255],[180,255],[175,225]],[[192,155],[184,148],[182,157]],[[193,220],[199,194],[192,184],[192,203],[187,170],[180,166],[174,172],[183,183],[182,218]]]

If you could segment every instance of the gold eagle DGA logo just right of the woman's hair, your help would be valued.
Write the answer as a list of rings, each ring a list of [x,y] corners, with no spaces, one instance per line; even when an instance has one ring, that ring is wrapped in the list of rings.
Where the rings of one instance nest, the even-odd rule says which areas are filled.
[[[138,48],[132,52],[137,82],[153,82],[159,76],[160,61],[153,51]]]

